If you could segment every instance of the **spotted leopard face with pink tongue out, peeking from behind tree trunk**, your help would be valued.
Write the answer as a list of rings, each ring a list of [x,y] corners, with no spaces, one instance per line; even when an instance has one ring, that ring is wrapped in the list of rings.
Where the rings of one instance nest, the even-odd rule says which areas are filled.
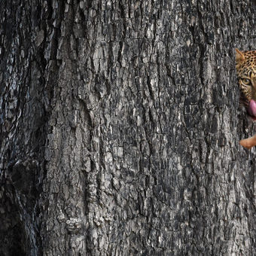
[[[240,105],[256,120],[256,50],[236,49],[236,73],[240,90]]]

